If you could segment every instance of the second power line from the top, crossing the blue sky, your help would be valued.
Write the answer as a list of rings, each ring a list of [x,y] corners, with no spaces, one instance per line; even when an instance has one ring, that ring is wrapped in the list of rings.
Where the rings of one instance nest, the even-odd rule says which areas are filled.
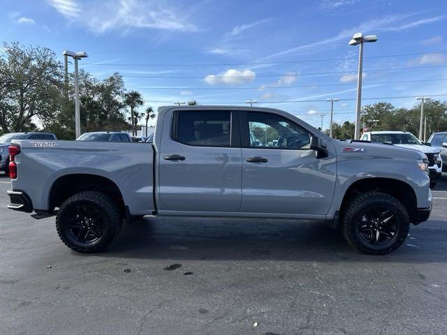
[[[433,65],[433,66],[413,66],[406,68],[378,68],[372,70],[363,70],[363,72],[385,72],[385,71],[395,71],[395,70],[417,70],[421,68],[444,68],[446,65]],[[353,71],[353,70],[352,70]],[[299,73],[296,71],[296,75],[335,75],[335,74],[346,74],[350,73],[349,70],[345,71],[328,71],[328,72],[309,72],[309,73]],[[214,75],[212,78],[256,78],[256,77],[290,77],[291,74],[281,74],[281,75]],[[109,77],[109,75],[96,75],[96,77]],[[159,79],[203,79],[203,76],[161,76],[161,75],[122,75],[126,78],[159,78]]]

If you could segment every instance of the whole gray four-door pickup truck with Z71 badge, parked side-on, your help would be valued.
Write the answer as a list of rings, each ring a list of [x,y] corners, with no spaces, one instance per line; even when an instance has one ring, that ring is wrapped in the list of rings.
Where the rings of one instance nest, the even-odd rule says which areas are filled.
[[[61,240],[83,253],[149,215],[326,221],[384,254],[432,208],[424,154],[331,140],[270,108],[161,107],[152,143],[15,140],[9,151],[8,207],[57,215]]]

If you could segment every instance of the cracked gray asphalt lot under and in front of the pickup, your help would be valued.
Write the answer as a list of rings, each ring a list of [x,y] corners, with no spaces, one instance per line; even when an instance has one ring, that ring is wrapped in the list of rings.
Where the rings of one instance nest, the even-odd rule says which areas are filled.
[[[8,188],[0,334],[447,334],[447,175],[386,256],[320,223],[205,218],[145,218],[82,255],[54,218],[6,209]]]

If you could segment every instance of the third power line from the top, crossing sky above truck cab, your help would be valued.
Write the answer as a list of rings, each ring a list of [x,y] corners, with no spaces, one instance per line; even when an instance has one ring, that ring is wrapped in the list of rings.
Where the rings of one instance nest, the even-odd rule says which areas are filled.
[[[435,82],[435,81],[443,81],[447,80],[447,78],[437,78],[437,79],[418,79],[418,80],[397,80],[397,81],[388,81],[388,82],[363,82],[363,84],[402,84],[406,82]],[[231,89],[296,89],[296,88],[306,88],[306,87],[337,87],[337,86],[356,86],[356,83],[349,84],[309,84],[309,85],[293,85],[293,86],[263,86],[263,87],[160,87],[160,86],[141,86],[141,87],[132,87],[129,86],[129,89],[193,89],[193,90],[231,90]]]

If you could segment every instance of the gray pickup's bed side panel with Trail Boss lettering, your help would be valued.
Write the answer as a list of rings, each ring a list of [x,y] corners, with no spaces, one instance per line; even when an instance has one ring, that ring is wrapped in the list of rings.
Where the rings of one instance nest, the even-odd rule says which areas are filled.
[[[27,190],[35,210],[49,209],[54,182],[67,174],[94,174],[110,179],[133,215],[154,211],[154,148],[149,143],[15,140],[15,190]]]

